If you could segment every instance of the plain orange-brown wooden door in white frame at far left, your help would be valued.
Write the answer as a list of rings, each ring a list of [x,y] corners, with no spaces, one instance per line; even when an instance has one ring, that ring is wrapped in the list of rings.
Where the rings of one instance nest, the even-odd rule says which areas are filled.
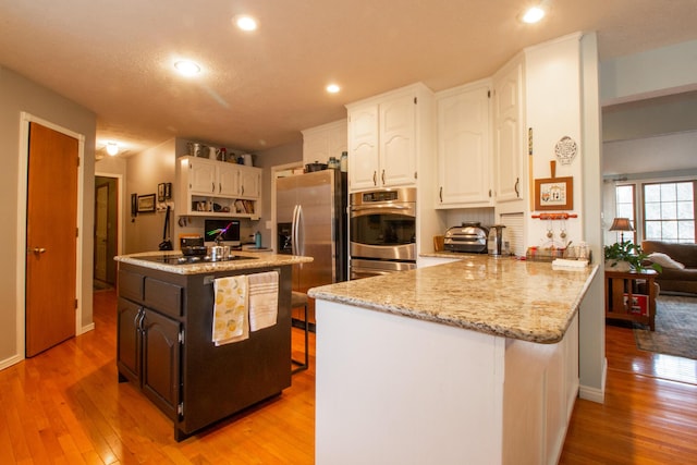
[[[26,356],[75,335],[77,162],[74,137],[29,125]]]

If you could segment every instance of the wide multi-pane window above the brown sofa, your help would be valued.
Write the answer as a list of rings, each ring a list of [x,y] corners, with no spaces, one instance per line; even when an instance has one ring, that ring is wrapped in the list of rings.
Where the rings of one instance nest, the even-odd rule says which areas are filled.
[[[644,237],[694,243],[695,182],[647,183],[643,187]]]

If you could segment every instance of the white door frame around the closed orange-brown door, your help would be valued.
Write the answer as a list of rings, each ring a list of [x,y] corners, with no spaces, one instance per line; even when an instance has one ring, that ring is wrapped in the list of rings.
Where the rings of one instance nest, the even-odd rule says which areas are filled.
[[[80,159],[80,164],[77,167],[77,224],[75,224],[75,228],[80,231],[80,235],[77,237],[75,249],[75,296],[77,298],[77,308],[75,311],[75,335],[80,335],[94,329],[94,323],[90,323],[85,328],[81,326],[83,316],[82,264],[83,249],[85,248],[85,240],[87,236],[86,231],[83,231],[84,228],[82,228],[82,220],[84,217],[85,136],[23,111],[20,113],[20,154],[17,163],[16,362],[25,358],[26,350],[26,196],[28,193],[27,175],[29,171],[29,123],[38,123],[77,139],[77,157]]]

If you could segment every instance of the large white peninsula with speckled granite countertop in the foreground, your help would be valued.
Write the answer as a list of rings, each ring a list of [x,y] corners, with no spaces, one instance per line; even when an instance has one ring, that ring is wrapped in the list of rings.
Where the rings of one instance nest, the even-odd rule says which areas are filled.
[[[311,289],[316,463],[555,463],[596,274],[465,256]]]

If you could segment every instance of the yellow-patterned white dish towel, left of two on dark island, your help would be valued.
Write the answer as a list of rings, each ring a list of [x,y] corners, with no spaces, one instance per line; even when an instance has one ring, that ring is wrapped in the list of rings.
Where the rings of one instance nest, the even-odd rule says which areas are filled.
[[[213,281],[213,343],[222,345],[249,339],[247,277],[218,278]]]

